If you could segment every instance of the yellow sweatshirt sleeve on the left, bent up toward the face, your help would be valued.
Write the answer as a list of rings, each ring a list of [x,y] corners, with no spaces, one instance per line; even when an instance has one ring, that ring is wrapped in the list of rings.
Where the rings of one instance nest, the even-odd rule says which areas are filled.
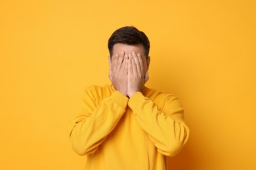
[[[70,124],[70,144],[79,155],[91,154],[106,139],[125,112],[128,98],[115,91],[100,101],[95,88],[85,90],[81,111]]]

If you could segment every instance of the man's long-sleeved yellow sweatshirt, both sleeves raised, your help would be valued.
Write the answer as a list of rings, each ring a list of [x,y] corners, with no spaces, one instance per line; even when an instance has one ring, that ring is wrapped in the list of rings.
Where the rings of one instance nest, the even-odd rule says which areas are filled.
[[[89,86],[70,126],[70,143],[88,170],[167,169],[189,129],[179,99],[144,88],[129,99],[112,85]]]

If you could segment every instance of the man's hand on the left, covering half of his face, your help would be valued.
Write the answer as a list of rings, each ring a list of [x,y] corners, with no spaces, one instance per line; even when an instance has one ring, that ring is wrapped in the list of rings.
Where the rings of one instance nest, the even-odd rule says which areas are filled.
[[[128,74],[128,55],[125,52],[116,54],[110,61],[110,80],[115,90],[127,96],[127,74]]]

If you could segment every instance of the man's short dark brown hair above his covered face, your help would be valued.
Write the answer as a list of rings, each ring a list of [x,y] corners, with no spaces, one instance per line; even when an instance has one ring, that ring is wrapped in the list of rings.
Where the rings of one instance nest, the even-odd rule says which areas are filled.
[[[117,43],[128,45],[142,44],[144,46],[146,58],[148,58],[150,41],[148,40],[148,37],[146,37],[146,34],[139,31],[136,27],[121,27],[114,31],[110,39],[108,39],[108,51],[110,52],[110,57],[113,54],[113,46]]]

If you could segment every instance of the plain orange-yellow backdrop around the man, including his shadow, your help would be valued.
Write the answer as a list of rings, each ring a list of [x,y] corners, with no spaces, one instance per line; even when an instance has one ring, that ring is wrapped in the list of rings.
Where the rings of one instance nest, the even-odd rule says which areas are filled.
[[[150,88],[190,127],[173,169],[256,169],[255,1],[1,1],[0,169],[84,169],[68,141],[83,89],[109,84],[107,41],[151,42]]]

